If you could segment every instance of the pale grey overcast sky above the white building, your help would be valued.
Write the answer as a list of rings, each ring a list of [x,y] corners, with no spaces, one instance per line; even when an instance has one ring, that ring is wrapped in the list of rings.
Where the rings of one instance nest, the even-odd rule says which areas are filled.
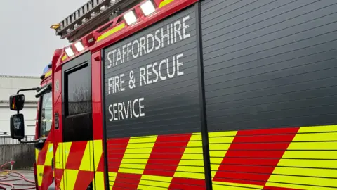
[[[68,44],[49,27],[88,0],[1,0],[0,75],[40,76]]]

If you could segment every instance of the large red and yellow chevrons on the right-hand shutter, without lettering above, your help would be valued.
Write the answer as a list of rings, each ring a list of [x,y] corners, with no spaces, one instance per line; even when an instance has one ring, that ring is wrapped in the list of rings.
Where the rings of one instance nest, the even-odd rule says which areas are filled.
[[[335,189],[336,145],[337,125],[211,132],[213,189]]]

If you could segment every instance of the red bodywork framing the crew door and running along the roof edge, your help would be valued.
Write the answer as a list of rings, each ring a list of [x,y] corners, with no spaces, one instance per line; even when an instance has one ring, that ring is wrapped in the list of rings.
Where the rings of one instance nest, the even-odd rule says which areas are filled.
[[[72,58],[67,58],[64,61],[62,61],[62,56],[65,55],[65,49],[58,49],[55,51],[55,55],[53,56],[53,113],[59,113],[62,115],[62,64],[66,63],[67,61],[72,60],[73,58],[77,58],[78,56],[81,56],[81,54],[86,53],[87,51],[91,51],[91,77],[92,77],[92,107],[93,107],[93,139],[103,139],[103,115],[102,115],[102,58],[101,58],[101,50],[104,49],[106,46],[110,46],[116,42],[118,42],[121,39],[124,39],[125,37],[130,36],[131,34],[138,32],[139,30],[142,30],[145,27],[148,27],[156,22],[158,22],[161,19],[164,19],[168,17],[169,15],[176,13],[183,8],[186,8],[187,6],[190,6],[197,2],[197,0],[180,0],[180,1],[173,1],[171,4],[164,6],[162,8],[159,8],[157,10],[157,13],[154,13],[148,17],[140,17],[138,18],[138,23],[132,26],[124,27],[124,29],[120,30],[119,32],[116,32],[109,37],[101,40],[100,42],[96,42],[92,46],[88,47],[88,44],[86,43],[86,39],[89,39],[89,37],[95,36],[98,37],[98,28],[95,30],[95,32],[92,32],[91,34],[88,34],[86,37],[83,37],[81,40],[84,42],[84,46],[86,46],[86,50],[82,51],[81,53],[75,52],[75,56]],[[156,4],[158,1],[156,1]],[[111,22],[110,22],[111,23]],[[110,23],[107,23],[106,25],[109,25]],[[119,24],[119,23],[118,23]],[[107,28],[107,30],[110,30],[115,25],[112,25],[110,28]],[[104,27],[104,26],[102,26]],[[105,30],[105,31],[107,31]],[[103,32],[105,32],[103,31]],[[103,32],[100,32],[103,34]],[[56,83],[58,83],[58,91],[56,91]],[[59,117],[59,123],[60,127],[59,129],[56,129],[53,131],[53,150],[54,154],[56,153],[56,150],[58,148],[58,144],[62,142],[62,117]],[[49,138],[49,137],[48,137]],[[104,144],[104,141],[102,141],[102,147]],[[104,150],[102,151],[102,156],[100,160],[100,165],[98,167],[98,170],[103,171],[104,170]],[[55,155],[54,155],[55,157]],[[56,163],[55,163],[56,164]],[[57,186],[60,186],[60,181],[62,179],[64,171],[63,170],[55,170],[55,184]],[[104,175],[104,178],[106,177],[106,174]],[[106,182],[107,179],[104,181]],[[61,188],[65,188],[64,186],[61,186]]]

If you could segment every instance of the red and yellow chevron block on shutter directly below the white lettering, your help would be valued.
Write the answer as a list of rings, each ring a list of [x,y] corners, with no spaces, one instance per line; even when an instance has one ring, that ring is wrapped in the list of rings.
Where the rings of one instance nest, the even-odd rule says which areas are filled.
[[[110,189],[206,189],[201,134],[108,139]]]

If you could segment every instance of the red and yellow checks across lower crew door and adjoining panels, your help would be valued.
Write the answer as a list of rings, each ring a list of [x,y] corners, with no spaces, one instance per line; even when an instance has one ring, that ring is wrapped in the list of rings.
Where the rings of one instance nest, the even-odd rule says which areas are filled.
[[[93,182],[94,189],[104,189],[102,140],[75,141],[58,144],[55,168],[62,171],[61,188],[86,189]]]

